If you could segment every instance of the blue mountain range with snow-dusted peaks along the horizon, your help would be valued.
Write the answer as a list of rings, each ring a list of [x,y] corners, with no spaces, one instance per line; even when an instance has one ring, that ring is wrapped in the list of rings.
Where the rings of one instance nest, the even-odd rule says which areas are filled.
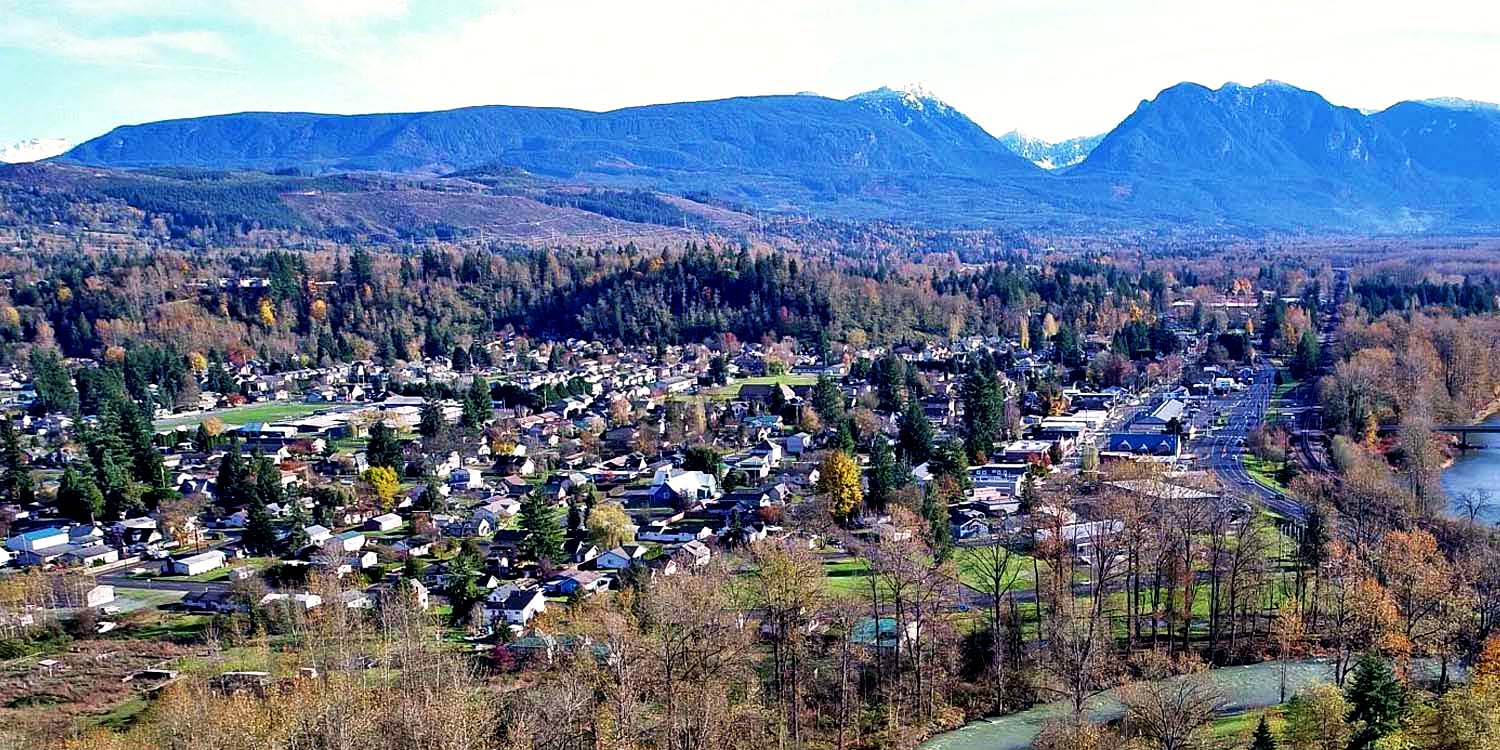
[[[1500,230],[1496,106],[1432,99],[1365,114],[1275,81],[1178,84],[1108,134],[1065,144],[994,138],[927,92],[879,88],[608,112],[240,112],[117,128],[60,160],[452,180],[524,174],[759,210],[958,225]]]

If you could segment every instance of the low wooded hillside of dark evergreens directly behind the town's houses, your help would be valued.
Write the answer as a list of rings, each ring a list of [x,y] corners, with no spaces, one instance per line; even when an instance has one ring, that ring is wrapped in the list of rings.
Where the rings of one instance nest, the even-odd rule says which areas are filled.
[[[1113,330],[1128,310],[1154,304],[1154,292],[1162,298],[1155,272],[1084,261],[940,270],[696,242],[402,255],[58,250],[14,258],[3,276],[10,292],[0,340],[10,354],[34,344],[70,357],[160,346],[282,368],[447,356],[502,332],[894,344],[1016,330],[1024,309],[1080,327],[1113,321]]]

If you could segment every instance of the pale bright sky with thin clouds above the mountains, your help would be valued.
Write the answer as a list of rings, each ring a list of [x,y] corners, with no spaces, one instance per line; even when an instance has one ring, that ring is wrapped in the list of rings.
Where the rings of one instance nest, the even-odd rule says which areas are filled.
[[[1492,0],[0,0],[0,146],[248,110],[618,106],[920,82],[994,135],[1180,81],[1500,102]]]

